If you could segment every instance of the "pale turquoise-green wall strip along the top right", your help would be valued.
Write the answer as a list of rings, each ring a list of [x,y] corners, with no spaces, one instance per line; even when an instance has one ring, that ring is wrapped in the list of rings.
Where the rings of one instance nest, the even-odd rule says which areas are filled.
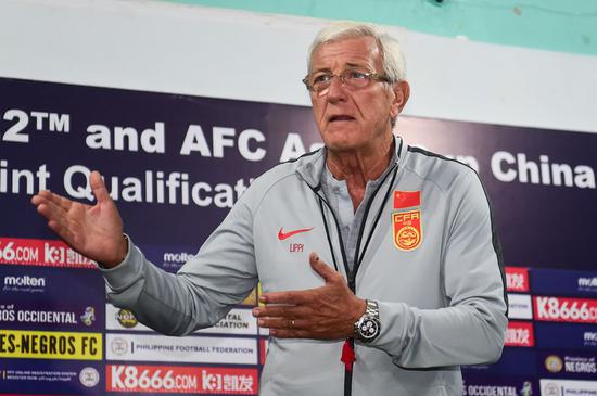
[[[165,0],[398,25],[439,36],[597,55],[597,0]]]

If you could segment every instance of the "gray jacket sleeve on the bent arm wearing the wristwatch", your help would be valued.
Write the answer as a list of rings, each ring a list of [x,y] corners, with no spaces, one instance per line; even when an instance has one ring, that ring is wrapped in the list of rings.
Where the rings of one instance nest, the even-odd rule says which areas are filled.
[[[441,266],[446,306],[380,302],[382,332],[372,346],[402,368],[486,363],[501,355],[508,323],[501,247],[479,177],[460,176],[447,194],[452,210]]]

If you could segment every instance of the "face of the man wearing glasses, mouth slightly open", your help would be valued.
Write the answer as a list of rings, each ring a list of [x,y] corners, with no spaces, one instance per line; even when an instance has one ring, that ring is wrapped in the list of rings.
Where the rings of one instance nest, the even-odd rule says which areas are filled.
[[[319,46],[313,54],[310,76],[339,75],[358,69],[383,76],[381,53],[372,37],[359,37]],[[406,82],[372,80],[366,88],[346,87],[334,77],[327,93],[310,92],[315,122],[329,150],[374,150],[391,135],[391,119],[408,99]]]

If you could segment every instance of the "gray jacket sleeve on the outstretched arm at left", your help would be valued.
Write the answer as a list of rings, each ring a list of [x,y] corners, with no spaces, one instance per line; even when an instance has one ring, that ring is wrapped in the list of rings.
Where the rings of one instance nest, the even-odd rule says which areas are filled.
[[[178,273],[151,264],[132,243],[125,260],[102,269],[107,299],[167,335],[215,324],[257,284],[252,214],[241,196]]]

